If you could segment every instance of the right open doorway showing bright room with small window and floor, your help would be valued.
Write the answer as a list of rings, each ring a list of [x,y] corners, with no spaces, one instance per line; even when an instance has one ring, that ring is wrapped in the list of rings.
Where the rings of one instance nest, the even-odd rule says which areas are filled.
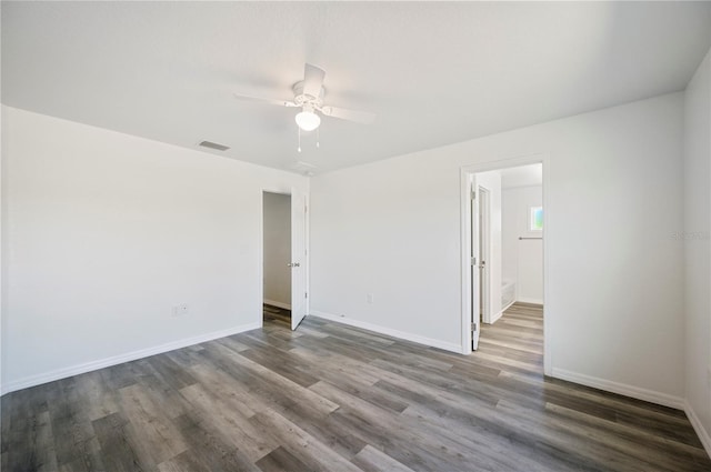
[[[543,164],[522,163],[462,169],[464,352],[499,331],[544,339]]]

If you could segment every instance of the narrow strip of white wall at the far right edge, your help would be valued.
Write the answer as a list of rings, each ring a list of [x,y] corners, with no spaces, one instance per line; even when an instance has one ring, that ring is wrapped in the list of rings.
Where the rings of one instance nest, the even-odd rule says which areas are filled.
[[[685,92],[684,224],[687,411],[711,454],[711,51]]]

